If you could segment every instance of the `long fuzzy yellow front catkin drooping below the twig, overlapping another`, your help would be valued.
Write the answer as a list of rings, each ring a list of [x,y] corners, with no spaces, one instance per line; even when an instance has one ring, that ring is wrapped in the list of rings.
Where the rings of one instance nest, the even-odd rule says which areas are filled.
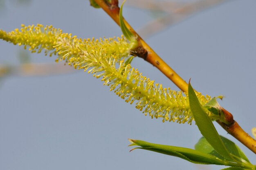
[[[62,60],[76,69],[89,70],[96,78],[102,78],[104,85],[110,87],[127,103],[135,103],[136,108],[151,118],[161,118],[162,121],[189,123],[193,120],[186,94],[170,88],[163,88],[130,65],[124,65],[124,60],[105,52],[104,48],[92,48],[90,43],[63,34],[55,46]],[[97,49],[97,50],[95,50]],[[118,63],[118,65],[117,65]],[[210,100],[209,96],[197,93],[201,104]]]

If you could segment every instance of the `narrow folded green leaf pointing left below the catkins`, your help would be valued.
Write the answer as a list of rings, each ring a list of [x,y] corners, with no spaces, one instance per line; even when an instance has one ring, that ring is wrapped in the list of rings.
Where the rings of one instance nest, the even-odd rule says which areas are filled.
[[[129,139],[129,141],[132,143],[130,146],[134,146],[134,145],[141,146],[141,148],[134,148],[134,149],[144,149],[144,150],[150,150],[150,151],[158,152],[162,154],[167,154],[174,157],[185,159],[186,161],[190,161],[192,163],[216,164],[216,165],[227,164],[227,162],[222,161],[210,154],[206,154],[204,152],[200,152],[200,151],[189,149],[189,148],[159,145],[159,144],[148,143],[145,141],[139,141],[134,139]]]

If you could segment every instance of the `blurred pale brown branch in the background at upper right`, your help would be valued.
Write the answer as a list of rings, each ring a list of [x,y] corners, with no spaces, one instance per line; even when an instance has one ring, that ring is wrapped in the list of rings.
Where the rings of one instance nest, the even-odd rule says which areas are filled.
[[[164,12],[164,16],[156,18],[137,30],[137,33],[142,38],[148,38],[149,36],[157,34],[163,29],[188,18],[192,14],[226,1],[227,0],[197,0],[193,2],[168,2],[158,0],[129,0],[127,1],[127,4],[132,7],[139,7],[150,11]]]

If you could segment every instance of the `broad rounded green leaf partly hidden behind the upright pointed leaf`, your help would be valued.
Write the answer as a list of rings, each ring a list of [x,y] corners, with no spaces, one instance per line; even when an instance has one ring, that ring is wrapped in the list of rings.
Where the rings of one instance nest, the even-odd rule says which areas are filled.
[[[230,152],[230,154],[232,154],[232,156],[235,159],[237,159],[238,161],[243,162],[243,163],[250,162],[248,160],[248,158],[245,156],[245,154],[243,153],[243,151],[234,142],[230,141],[229,139],[227,139],[223,136],[220,136],[220,138],[222,139],[227,150]],[[205,139],[205,137],[202,137],[201,139],[199,139],[198,143],[195,144],[195,150],[198,150],[200,152],[204,152],[207,154],[211,154],[211,155],[218,157],[222,160],[224,159],[218,152],[216,152],[216,150],[214,150],[214,148]]]

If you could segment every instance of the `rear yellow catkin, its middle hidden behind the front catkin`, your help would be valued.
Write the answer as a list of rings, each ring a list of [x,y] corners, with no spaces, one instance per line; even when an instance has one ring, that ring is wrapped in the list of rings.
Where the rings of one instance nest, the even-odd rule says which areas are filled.
[[[61,37],[61,35],[67,35],[62,32],[61,29],[56,29],[52,25],[21,25],[21,29],[15,29],[15,31],[6,32],[0,30],[0,38],[11,42],[14,45],[24,45],[24,48],[31,52],[40,53],[43,49],[47,55],[49,51],[49,56],[56,54],[56,49],[54,48],[54,42],[56,39]],[[69,34],[71,36],[71,34]],[[81,43],[87,44],[88,48],[94,48],[96,51],[99,49],[105,49],[105,52],[108,54],[113,54],[117,58],[124,58],[130,54],[130,44],[121,36],[121,38],[99,38],[99,39],[80,39]]]

